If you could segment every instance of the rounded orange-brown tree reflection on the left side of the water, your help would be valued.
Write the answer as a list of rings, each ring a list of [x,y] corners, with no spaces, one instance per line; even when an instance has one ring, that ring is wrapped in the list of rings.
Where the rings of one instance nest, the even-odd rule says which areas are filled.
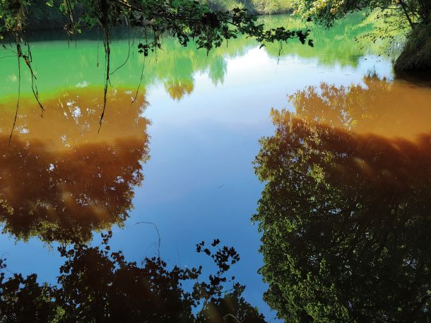
[[[143,98],[112,95],[100,134],[100,98],[83,90],[28,108],[8,146],[0,136],[0,202],[4,230],[20,238],[88,240],[92,230],[122,225],[148,158]],[[11,114],[1,120],[7,124]],[[9,130],[6,125],[1,129]],[[5,132],[6,132],[5,131]]]

